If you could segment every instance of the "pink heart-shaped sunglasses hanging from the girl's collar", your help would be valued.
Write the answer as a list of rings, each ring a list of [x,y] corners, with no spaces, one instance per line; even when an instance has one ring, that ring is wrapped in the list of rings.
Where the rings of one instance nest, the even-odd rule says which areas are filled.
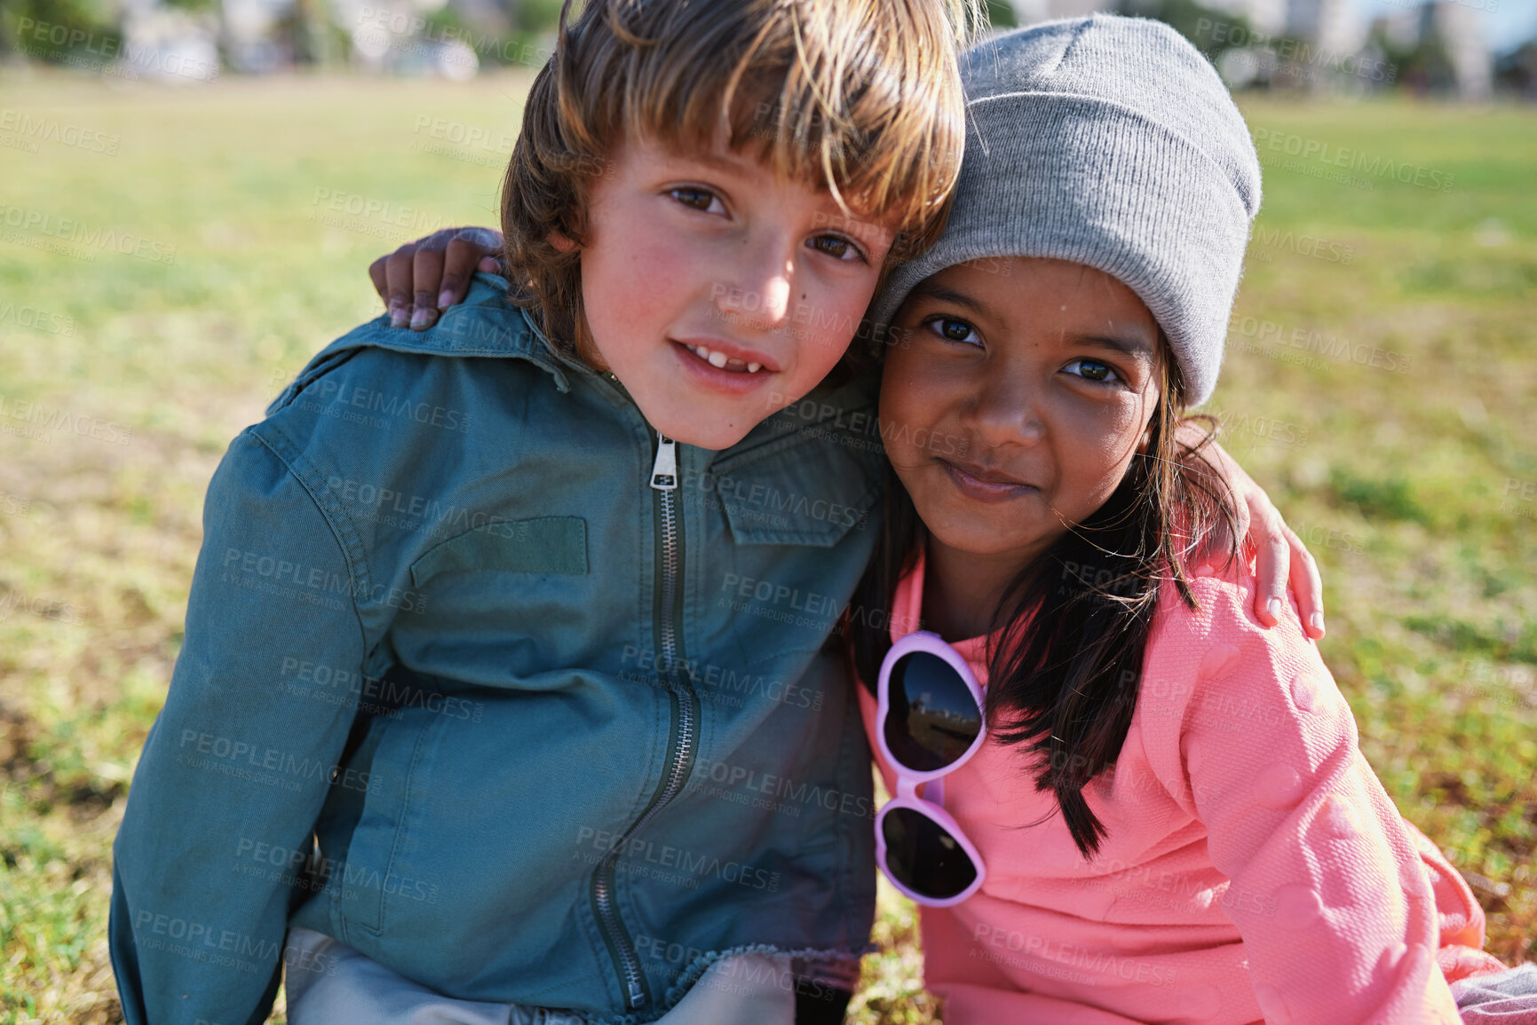
[[[961,904],[982,885],[987,870],[941,804],[942,778],[965,765],[987,739],[982,687],[959,652],[919,630],[887,652],[876,695],[881,755],[896,771],[896,796],[875,819],[876,864],[918,904]]]

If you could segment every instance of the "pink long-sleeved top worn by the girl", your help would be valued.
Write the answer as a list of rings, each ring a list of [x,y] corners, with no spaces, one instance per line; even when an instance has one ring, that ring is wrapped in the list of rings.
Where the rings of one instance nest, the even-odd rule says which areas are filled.
[[[922,908],[945,1025],[1460,1022],[1448,979],[1503,970],[1466,882],[1362,758],[1296,610],[1260,627],[1251,567],[1193,584],[1199,612],[1160,602],[1125,745],[1085,788],[1108,828],[1093,861],[1022,748],[988,742],[944,779],[987,865],[976,896]],[[919,559],[893,639],[922,593]],[[985,639],[954,647],[985,687]]]

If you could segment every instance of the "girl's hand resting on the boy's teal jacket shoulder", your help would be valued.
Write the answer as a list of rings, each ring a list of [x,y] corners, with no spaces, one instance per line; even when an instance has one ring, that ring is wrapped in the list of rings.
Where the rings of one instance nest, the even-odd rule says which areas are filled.
[[[369,278],[389,307],[390,327],[432,327],[464,298],[476,270],[503,274],[501,246],[501,232],[490,227],[444,227],[375,260]]]

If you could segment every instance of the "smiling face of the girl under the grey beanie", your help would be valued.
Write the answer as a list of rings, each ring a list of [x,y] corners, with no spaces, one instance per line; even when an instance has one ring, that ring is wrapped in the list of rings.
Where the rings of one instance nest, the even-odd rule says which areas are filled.
[[[1114,493],[1159,400],[1157,321],[1077,263],[959,264],[913,289],[881,383],[930,546],[1016,572]]]

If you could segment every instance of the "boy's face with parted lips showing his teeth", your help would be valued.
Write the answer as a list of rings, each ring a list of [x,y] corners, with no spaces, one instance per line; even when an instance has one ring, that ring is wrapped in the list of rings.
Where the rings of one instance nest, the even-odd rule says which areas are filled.
[[[844,355],[893,241],[752,148],[627,140],[589,192],[587,338],[669,438],[725,449]]]

